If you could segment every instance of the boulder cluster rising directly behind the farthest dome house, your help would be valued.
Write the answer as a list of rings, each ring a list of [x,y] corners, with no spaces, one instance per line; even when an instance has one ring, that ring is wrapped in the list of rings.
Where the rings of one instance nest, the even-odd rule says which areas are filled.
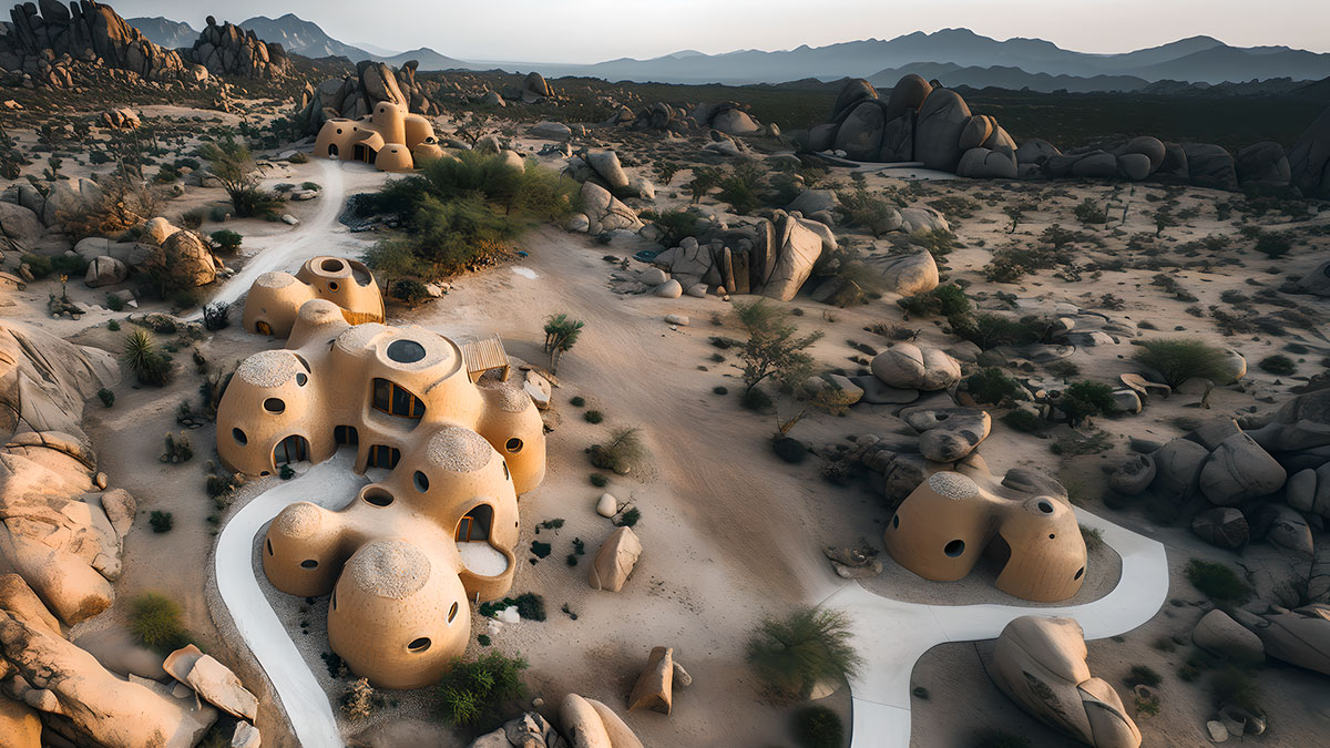
[[[424,81],[416,81],[418,67],[415,60],[402,68],[362,60],[355,67],[355,75],[327,79],[318,87],[306,83],[295,100],[297,121],[305,132],[317,133],[327,120],[364,117],[379,101],[400,104],[416,114],[436,113]]]

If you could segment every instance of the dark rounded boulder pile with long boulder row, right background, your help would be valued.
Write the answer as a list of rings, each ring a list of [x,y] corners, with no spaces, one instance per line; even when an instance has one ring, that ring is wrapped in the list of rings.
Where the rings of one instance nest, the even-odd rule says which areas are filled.
[[[1150,136],[1063,153],[1037,138],[1017,146],[996,118],[972,113],[955,91],[911,73],[886,100],[868,81],[851,80],[830,120],[794,138],[838,158],[919,162],[974,178],[1153,178],[1224,190],[1294,186],[1309,196],[1330,190],[1330,113],[1289,153],[1277,142],[1258,142],[1234,157],[1220,145],[1165,144]]]

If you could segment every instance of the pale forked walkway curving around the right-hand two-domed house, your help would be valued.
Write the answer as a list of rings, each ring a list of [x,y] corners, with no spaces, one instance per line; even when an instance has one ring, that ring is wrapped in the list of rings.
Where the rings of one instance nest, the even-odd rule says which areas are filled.
[[[1154,618],[1168,599],[1164,546],[1083,508],[1076,516],[1100,530],[1123,559],[1117,587],[1081,606],[926,606],[880,598],[855,582],[826,599],[823,604],[850,616],[855,646],[864,655],[862,675],[850,683],[851,748],[910,745],[910,673],[938,644],[995,639],[1023,615],[1073,618],[1085,630],[1085,639],[1125,634]]]

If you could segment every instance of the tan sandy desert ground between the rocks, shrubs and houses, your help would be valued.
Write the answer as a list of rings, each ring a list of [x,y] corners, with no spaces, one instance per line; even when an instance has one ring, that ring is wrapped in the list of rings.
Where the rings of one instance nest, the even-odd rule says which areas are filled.
[[[185,116],[188,112],[164,108],[150,114]],[[32,137],[31,132],[19,132],[17,136],[20,140]],[[529,149],[539,145],[527,140],[519,142]],[[544,161],[555,162],[552,158]],[[329,181],[330,166],[344,181],[343,194],[375,189],[386,178],[363,165],[278,164],[267,174],[269,184]],[[84,169],[77,165],[66,173],[86,173]],[[630,168],[629,172],[638,169]],[[837,172],[831,178],[849,184],[847,173]],[[910,186],[891,173],[867,174],[866,180],[871,188]],[[686,196],[677,189],[686,181],[686,170],[676,176],[674,186],[660,189],[654,206],[666,209],[686,204]],[[1277,568],[1278,554],[1269,547],[1253,547],[1245,558],[1236,558],[1201,543],[1185,526],[1157,524],[1140,507],[1115,510],[1101,502],[1107,478],[1104,468],[1123,459],[1130,437],[1165,441],[1185,433],[1189,423],[1200,417],[1271,409],[1287,397],[1291,385],[1321,371],[1317,362],[1330,351],[1330,346],[1319,330],[1290,329],[1286,337],[1244,334],[1225,338],[1212,321],[1186,311],[1192,303],[1201,309],[1226,303],[1220,298],[1225,291],[1250,294],[1258,285],[1279,286],[1285,277],[1310,269],[1317,258],[1315,245],[1299,245],[1282,261],[1267,261],[1252,252],[1240,253],[1241,245],[1237,245],[1218,253],[1220,257],[1174,258],[1164,270],[1128,266],[1103,272],[1101,276],[1085,273],[1079,281],[1053,278],[1045,270],[1015,285],[990,283],[982,268],[991,258],[992,249],[1012,240],[1032,240],[1052,224],[1101,234],[1107,246],[1088,250],[1092,254],[1141,260],[1125,249],[1124,237],[1154,233],[1149,198],[1158,200],[1166,190],[1154,185],[1072,182],[1007,189],[1005,185],[960,180],[930,182],[918,189],[919,200],[963,196],[975,202],[970,217],[954,221],[962,246],[944,262],[952,280],[972,282],[971,295],[980,298],[986,309],[1011,307],[996,298],[999,290],[1015,294],[1020,309],[1031,311],[1052,310],[1057,303],[1092,309],[1103,294],[1112,293],[1121,297],[1125,306],[1120,311],[1103,310],[1105,314],[1132,325],[1148,321],[1161,331],[1142,334],[1201,334],[1240,349],[1250,363],[1279,351],[1289,342],[1310,351],[1301,357],[1303,363],[1293,378],[1281,379],[1252,366],[1241,387],[1220,389],[1212,395],[1208,411],[1193,407],[1198,399],[1196,395],[1177,394],[1166,401],[1152,401],[1138,417],[1097,419],[1095,427],[1107,434],[1107,449],[1093,454],[1052,454],[1051,445],[1072,437],[1065,427],[1037,437],[1015,433],[1000,423],[995,423],[994,434],[982,449],[995,471],[1033,466],[1060,474],[1075,500],[1161,540],[1169,548],[1174,600],[1149,624],[1124,636],[1123,642],[1092,643],[1091,668],[1127,693],[1128,689],[1121,685],[1125,671],[1132,664],[1152,664],[1165,679],[1157,689],[1162,701],[1161,713],[1138,716],[1145,744],[1200,744],[1212,705],[1204,689],[1182,683],[1174,671],[1190,648],[1188,638],[1192,623],[1200,616],[1202,598],[1190,588],[1181,568],[1193,556],[1241,562],[1256,570]],[[1029,210],[1016,232],[1009,234],[1001,208],[1008,200],[1033,193],[1039,193],[1037,209]],[[1125,222],[1115,217],[1101,228],[1076,225],[1071,209],[1085,197],[1125,201]],[[287,210],[305,221],[295,228],[254,220],[227,221],[225,228],[245,234],[246,242],[238,257],[223,260],[243,273],[247,256],[267,248],[291,246],[297,237],[309,256],[355,254],[378,238],[374,233],[350,234],[344,228],[327,222],[329,208],[321,201],[332,198],[332,194],[325,194],[311,202],[290,204]],[[217,189],[188,186],[182,197],[168,205],[166,214],[176,217],[193,208],[218,205],[222,200]],[[1240,198],[1189,188],[1177,200],[1180,210],[1194,206],[1198,216],[1164,230],[1161,245],[1165,252],[1189,240],[1234,233],[1234,221],[1221,221],[1214,205]],[[721,212],[724,206],[709,198],[704,201],[704,209]],[[1322,213],[1299,226],[1323,226],[1326,218],[1327,214]],[[1258,221],[1279,230],[1285,228],[1281,224],[1286,218],[1270,216]],[[218,228],[222,225],[203,225],[205,230]],[[874,241],[853,230],[846,232],[842,241],[866,252],[891,248],[888,240]],[[537,363],[544,363],[540,323],[547,314],[568,313],[587,322],[583,339],[559,370],[556,406],[548,414],[553,429],[549,472],[539,490],[521,498],[523,535],[517,546],[521,568],[513,592],[541,594],[549,619],[503,627],[493,634],[495,646],[505,652],[521,652],[531,661],[531,695],[543,699],[547,705],[557,704],[565,692],[576,691],[621,711],[650,647],[672,646],[676,657],[693,675],[694,684],[676,693],[674,713],[669,717],[626,715],[628,723],[648,745],[785,745],[787,711],[765,701],[761,685],[743,661],[746,638],[762,616],[779,614],[795,603],[821,602],[845,583],[822,558],[822,548],[853,546],[861,540],[880,546],[880,531],[891,515],[890,508],[871,486],[833,484],[819,476],[814,463],[790,466],[771,454],[766,442],[766,435],[774,430],[770,415],[757,415],[739,407],[737,393],[741,383],[730,354],[725,354],[728,361],[724,362],[712,359],[717,350],[708,342],[710,335],[739,337],[726,301],[716,297],[661,299],[614,293],[617,285],[612,276],[618,268],[602,257],[630,256],[638,246],[600,246],[585,237],[544,228],[523,240],[521,249],[528,253],[527,257],[458,278],[452,290],[436,302],[418,309],[390,307],[392,323],[422,325],[448,335],[497,333],[511,355]],[[297,253],[283,254],[281,261],[273,254],[265,257],[265,269],[291,272],[303,260]],[[633,266],[640,265],[634,262]],[[1152,286],[1157,272],[1174,276],[1200,301],[1181,302]],[[4,305],[0,314],[33,321],[80,343],[109,350],[118,347],[121,333],[109,331],[106,323],[122,321],[126,313],[110,313],[100,306],[106,289],[90,290],[70,282],[70,297],[89,309],[81,319],[70,321],[51,319],[44,313],[47,293],[52,287],[52,282],[47,281],[33,283],[25,291],[8,293],[0,299]],[[978,291],[987,291],[987,295]],[[1294,298],[1317,319],[1327,318],[1330,303],[1325,299]],[[931,343],[950,346],[954,342],[932,321],[906,321],[892,301],[884,298],[863,306],[834,309],[799,297],[786,306],[803,310],[801,329],[826,333],[813,349],[826,367],[851,371],[859,367],[851,361],[862,358],[862,353],[850,341],[883,347],[883,338],[864,331],[866,326],[878,322],[918,327],[920,339]],[[145,310],[165,310],[165,306],[148,303],[134,313]],[[686,314],[692,323],[672,329],[662,321],[670,313]],[[713,325],[713,317],[720,325]],[[238,319],[238,313],[234,318]],[[225,363],[279,346],[281,342],[250,335],[233,325],[207,337],[198,349],[210,361]],[[1080,377],[1112,381],[1132,370],[1132,350],[1127,341],[1084,347],[1072,361],[1079,365]],[[116,389],[113,409],[102,409],[98,403],[88,409],[85,425],[112,484],[134,494],[145,518],[152,510],[169,510],[176,516],[176,528],[169,534],[156,535],[141,527],[128,539],[125,574],[117,583],[121,602],[117,611],[145,590],[162,591],[180,600],[198,640],[225,655],[226,661],[262,699],[266,687],[258,668],[229,635],[226,616],[218,612],[215,600],[211,606],[209,600],[206,570],[210,567],[213,536],[229,516],[222,514],[210,520],[214,508],[203,491],[205,461],[213,454],[211,430],[205,427],[190,434],[200,455],[193,462],[170,466],[157,461],[162,435],[178,431],[177,405],[197,399],[197,379],[188,373],[189,350],[182,349],[177,361],[182,365],[181,375],[165,390],[140,389],[126,379]],[[1048,373],[1041,375],[1053,378]],[[716,386],[728,386],[730,394],[713,394]],[[587,423],[581,417],[583,409],[568,402],[573,395],[585,398],[587,409],[604,411],[606,421],[595,426]],[[806,442],[837,443],[851,435],[891,433],[902,426],[892,410],[858,406],[845,418],[810,417],[795,429],[794,435]],[[612,524],[593,511],[601,490],[588,482],[592,468],[583,450],[617,426],[641,427],[654,457],[648,474],[614,478],[604,488],[641,510],[642,520],[636,530],[645,552],[622,592],[592,592],[585,583],[587,563],[610,532]],[[235,511],[274,480],[242,488],[229,511]],[[563,518],[565,524],[557,531],[541,530],[537,536],[537,523],[553,518]],[[568,567],[563,559],[572,551],[573,538],[585,540],[588,556],[577,567]],[[551,542],[555,550],[549,558],[531,564],[527,559],[533,556],[525,550],[533,539]],[[1092,555],[1088,582],[1072,602],[1105,594],[1117,580],[1117,559],[1111,551]],[[980,570],[959,583],[930,583],[887,559],[883,575],[863,584],[875,594],[911,602],[1019,603],[992,590],[991,574]],[[1278,580],[1254,574],[1253,582],[1267,592]],[[326,647],[326,600],[307,604],[275,591],[270,591],[269,600],[289,623],[293,638],[302,643],[311,669],[323,681],[330,697],[339,697],[344,683],[329,679],[319,657]],[[577,615],[576,620],[560,612],[564,606]],[[310,624],[307,635],[298,630],[302,620]],[[487,622],[479,616],[473,616],[472,626],[475,634],[488,630]],[[1165,636],[1181,640],[1174,652],[1164,654],[1153,648]],[[473,651],[477,648],[479,644],[473,644]],[[1019,711],[991,684],[982,673],[974,646],[939,647],[919,661],[914,677],[930,692],[928,699],[918,699],[914,704],[915,745],[962,744],[966,733],[978,725],[1004,727],[1031,737],[1036,745],[1067,743]],[[1311,745],[1313,736],[1323,733],[1330,725],[1330,716],[1314,707],[1330,701],[1330,685],[1323,677],[1275,664],[1262,671],[1258,681],[1270,711],[1267,741]],[[379,745],[466,745],[466,740],[431,719],[427,693],[387,693],[387,699],[374,724],[346,725],[347,733],[363,731],[368,733],[367,740],[378,735],[375,744]],[[841,712],[849,723],[846,689],[823,703]],[[958,719],[958,713],[964,717]],[[274,709],[263,709],[259,727],[270,745],[295,744]]]

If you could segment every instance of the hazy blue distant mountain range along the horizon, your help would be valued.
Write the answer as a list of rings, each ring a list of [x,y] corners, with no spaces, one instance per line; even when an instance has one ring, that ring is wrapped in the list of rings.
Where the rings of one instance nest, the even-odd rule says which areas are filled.
[[[197,37],[197,32],[186,24],[166,19],[130,19],[130,23],[153,41],[169,47],[189,47]],[[952,87],[1092,92],[1141,91],[1156,81],[1220,84],[1281,77],[1311,81],[1330,76],[1330,53],[1287,47],[1232,47],[1209,36],[1193,36],[1134,52],[1089,55],[1063,49],[1043,39],[999,41],[956,28],[777,52],[743,49],[705,55],[684,49],[648,60],[622,57],[569,65],[471,63],[427,47],[384,55],[387,49],[338,41],[318,24],[293,13],[278,19],[257,16],[239,25],[253,29],[265,41],[281,43],[287,52],[306,57],[339,56],[394,65],[416,60],[422,71],[536,69],[549,77],[575,75],[612,81],[777,84],[801,79],[866,77],[876,85],[891,85],[900,75],[914,72]],[[182,35],[190,39],[182,41]]]

